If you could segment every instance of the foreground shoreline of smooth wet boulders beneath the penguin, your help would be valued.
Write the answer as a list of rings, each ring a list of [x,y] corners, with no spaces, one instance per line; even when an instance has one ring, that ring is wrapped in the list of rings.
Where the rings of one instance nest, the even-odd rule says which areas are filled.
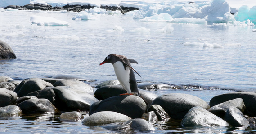
[[[85,81],[88,80],[63,75],[26,80],[0,76],[0,117],[62,113],[60,121],[81,121],[86,126],[116,131],[153,131],[155,123],[168,121],[180,122],[184,129],[256,124],[256,93],[221,94],[207,104],[189,94],[157,96],[147,91],[179,89],[175,85],[139,84],[142,99],[135,95],[119,96],[126,91],[117,80],[105,81],[95,87]],[[81,111],[87,111],[89,117],[84,117]]]

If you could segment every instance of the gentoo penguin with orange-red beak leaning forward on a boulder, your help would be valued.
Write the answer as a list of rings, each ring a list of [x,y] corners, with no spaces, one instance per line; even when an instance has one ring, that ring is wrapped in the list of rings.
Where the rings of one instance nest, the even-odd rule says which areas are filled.
[[[121,95],[127,95],[127,94],[139,95],[137,82],[133,72],[135,70],[130,65],[130,63],[137,63],[134,59],[127,59],[123,55],[110,54],[99,65],[102,65],[104,63],[112,63],[117,76],[117,80],[120,82],[123,88],[125,88],[125,90],[127,91],[127,93],[124,93]],[[135,72],[139,75],[137,71]]]

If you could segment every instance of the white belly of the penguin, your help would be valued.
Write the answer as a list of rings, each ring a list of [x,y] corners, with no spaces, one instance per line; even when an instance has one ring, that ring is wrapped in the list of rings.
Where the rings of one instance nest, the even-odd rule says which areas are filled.
[[[120,84],[125,88],[127,93],[131,93],[130,90],[130,68],[126,67],[126,70],[124,68],[124,65],[122,62],[118,61],[113,64],[114,70],[117,76],[117,80],[120,82]]]

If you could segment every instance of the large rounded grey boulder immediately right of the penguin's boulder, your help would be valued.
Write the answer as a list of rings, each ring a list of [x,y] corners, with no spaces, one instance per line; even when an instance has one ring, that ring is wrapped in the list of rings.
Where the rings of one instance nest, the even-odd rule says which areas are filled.
[[[198,98],[197,96],[183,94],[183,93],[170,93],[158,96],[152,105],[160,105],[171,118],[182,119],[189,109],[195,106],[201,106],[204,109],[209,109],[209,105]]]

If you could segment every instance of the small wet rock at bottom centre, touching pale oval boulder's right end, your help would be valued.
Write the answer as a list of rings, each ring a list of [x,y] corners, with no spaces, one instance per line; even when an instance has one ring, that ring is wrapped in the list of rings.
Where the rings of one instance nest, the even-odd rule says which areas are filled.
[[[124,125],[129,125],[131,129],[138,131],[153,131],[155,128],[144,119],[131,119]]]

